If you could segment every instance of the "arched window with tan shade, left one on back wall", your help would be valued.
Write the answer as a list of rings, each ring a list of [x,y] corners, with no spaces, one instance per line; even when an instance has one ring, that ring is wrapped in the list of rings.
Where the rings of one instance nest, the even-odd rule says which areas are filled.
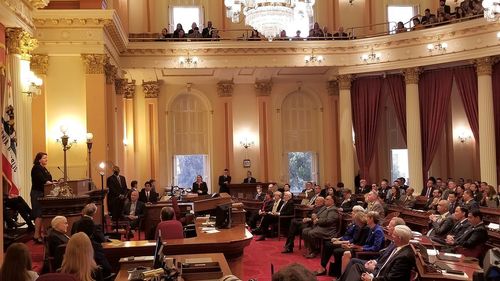
[[[182,94],[169,108],[174,185],[191,188],[201,175],[210,190],[208,110],[195,95]]]

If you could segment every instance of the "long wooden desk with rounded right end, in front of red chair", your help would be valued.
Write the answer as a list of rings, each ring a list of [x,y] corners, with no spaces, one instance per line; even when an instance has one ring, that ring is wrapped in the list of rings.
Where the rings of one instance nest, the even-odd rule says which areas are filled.
[[[241,273],[241,257],[243,250],[252,240],[252,234],[244,225],[235,225],[230,229],[220,229],[220,232],[208,234],[201,231],[201,224],[207,218],[196,219],[197,237],[166,240],[164,252],[166,255],[202,254],[221,252],[228,260],[235,274]],[[118,270],[118,261],[128,256],[148,256],[154,252],[154,241],[126,241],[117,244],[103,243],[104,253],[111,266]],[[241,275],[241,274],[240,274]],[[238,275],[238,276],[240,276]]]

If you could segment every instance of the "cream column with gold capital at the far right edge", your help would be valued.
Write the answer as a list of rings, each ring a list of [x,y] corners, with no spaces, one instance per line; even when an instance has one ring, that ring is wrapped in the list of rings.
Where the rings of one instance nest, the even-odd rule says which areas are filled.
[[[497,186],[497,161],[495,144],[495,120],[493,111],[493,86],[491,66],[493,59],[476,60],[478,113],[479,113],[479,163],[481,181]]]

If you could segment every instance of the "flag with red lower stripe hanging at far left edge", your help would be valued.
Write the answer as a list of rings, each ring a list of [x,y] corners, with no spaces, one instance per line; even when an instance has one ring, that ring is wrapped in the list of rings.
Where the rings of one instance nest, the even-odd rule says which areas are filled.
[[[5,91],[2,101],[2,174],[8,184],[9,194],[19,194],[16,123],[14,119],[14,97],[9,60],[7,60],[5,72]]]

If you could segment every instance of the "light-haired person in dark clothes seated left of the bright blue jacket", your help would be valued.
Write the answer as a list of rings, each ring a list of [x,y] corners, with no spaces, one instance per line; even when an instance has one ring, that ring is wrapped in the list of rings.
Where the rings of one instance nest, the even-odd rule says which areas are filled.
[[[330,263],[330,275],[339,277],[344,251],[349,248],[349,245],[365,244],[366,238],[368,238],[369,228],[366,226],[366,215],[363,207],[355,206],[351,217],[352,223],[347,226],[344,236],[340,238],[334,237],[323,243],[323,251],[321,253],[321,269],[315,271],[315,275],[326,274],[326,266],[333,255],[334,261]]]

